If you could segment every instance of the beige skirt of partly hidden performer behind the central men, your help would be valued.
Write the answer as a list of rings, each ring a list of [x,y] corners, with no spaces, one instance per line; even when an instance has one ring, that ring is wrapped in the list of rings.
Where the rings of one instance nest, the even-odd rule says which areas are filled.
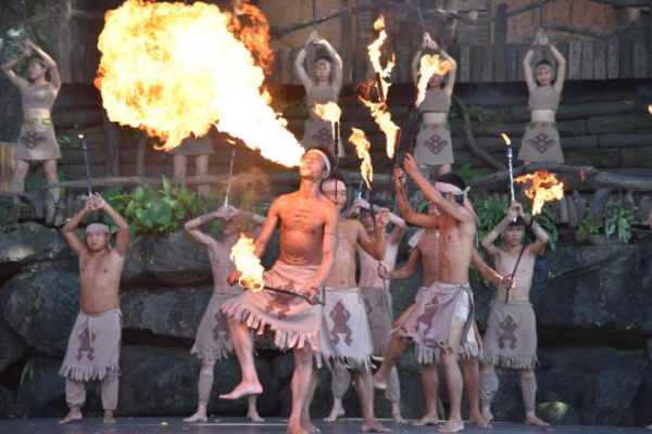
[[[383,356],[391,337],[391,294],[385,288],[361,288],[374,344],[374,356]]]

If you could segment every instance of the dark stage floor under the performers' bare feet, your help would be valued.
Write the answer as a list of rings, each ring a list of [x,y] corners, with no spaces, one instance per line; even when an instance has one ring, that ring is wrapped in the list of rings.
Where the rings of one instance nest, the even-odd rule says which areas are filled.
[[[344,419],[342,422],[326,423],[321,421],[317,425],[322,433],[344,434],[360,433],[359,419]],[[384,421],[394,433],[417,434],[436,433],[436,426],[416,427],[393,424]],[[268,419],[265,423],[250,423],[241,418],[211,419],[209,423],[186,424],[180,418],[120,418],[114,425],[104,425],[100,419],[89,418],[83,423],[73,425],[58,425],[55,419],[0,419],[0,434],[281,434],[286,431],[286,420],[280,418]],[[527,427],[513,423],[496,423],[489,430],[482,430],[472,424],[466,424],[465,433],[485,434],[529,434],[529,433],[556,433],[556,434],[634,434],[651,433],[643,429],[610,427],[610,426],[551,426]]]

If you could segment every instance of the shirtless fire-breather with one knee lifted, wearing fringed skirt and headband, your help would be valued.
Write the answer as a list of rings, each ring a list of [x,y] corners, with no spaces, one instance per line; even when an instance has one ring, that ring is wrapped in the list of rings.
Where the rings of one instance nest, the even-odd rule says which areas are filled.
[[[322,194],[319,184],[328,177],[333,164],[333,154],[325,148],[314,148],[303,154],[299,167],[299,190],[272,203],[254,243],[255,254],[260,257],[276,227],[280,228],[278,260],[272,270],[265,272],[265,284],[305,295],[310,303],[263,290],[246,291],[227,301],[222,308],[229,317],[242,381],[221,398],[238,399],[262,392],[253,365],[253,341],[248,324],[259,333],[269,331],[277,347],[294,352],[292,410],[288,421],[288,433],[292,434],[314,430],[309,408],[314,374],[313,353],[319,349],[317,331],[322,321],[322,306],[316,303],[333,268],[339,221],[337,207]],[[239,277],[239,272],[233,273],[229,282],[235,283]]]

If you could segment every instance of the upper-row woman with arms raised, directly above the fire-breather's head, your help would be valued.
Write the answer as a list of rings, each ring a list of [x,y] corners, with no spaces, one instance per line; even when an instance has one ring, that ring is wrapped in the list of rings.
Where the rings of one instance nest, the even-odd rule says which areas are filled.
[[[328,55],[319,55],[315,61],[316,82],[313,82],[304,67],[306,50],[311,43],[315,47],[323,47],[328,53]],[[294,67],[305,89],[305,105],[310,112],[310,118],[305,120],[301,140],[303,148],[308,150],[318,145],[326,146],[333,153],[337,152],[338,156],[343,157],[346,155],[344,145],[339,140],[336,149],[331,123],[321,119],[315,113],[316,104],[337,102],[342,88],[342,59],[326,39],[319,38],[317,33],[313,31],[305,41],[305,47],[299,52]]]

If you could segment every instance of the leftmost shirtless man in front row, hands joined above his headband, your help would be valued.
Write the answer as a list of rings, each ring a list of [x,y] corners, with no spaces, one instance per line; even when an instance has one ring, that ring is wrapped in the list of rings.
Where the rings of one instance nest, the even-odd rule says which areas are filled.
[[[86,227],[86,243],[75,234],[82,219],[95,209],[103,209],[117,226],[113,248],[109,248],[111,231],[104,224]],[[68,413],[59,423],[82,420],[82,406],[86,401],[84,382],[96,379],[101,384],[104,423],[114,423],[122,331],[118,292],[129,243],[129,225],[99,194],[95,194],[88,199],[84,209],[63,227],[62,232],[79,256],[82,293],[80,311],[59,371],[65,378],[65,397],[70,407]]]

